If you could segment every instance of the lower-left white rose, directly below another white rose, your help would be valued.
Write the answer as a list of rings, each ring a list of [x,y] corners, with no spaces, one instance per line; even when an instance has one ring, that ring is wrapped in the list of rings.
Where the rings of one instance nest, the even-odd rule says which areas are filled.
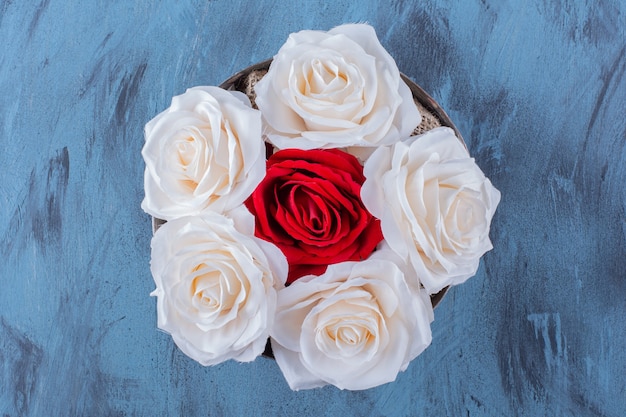
[[[263,352],[287,276],[278,248],[251,236],[252,215],[229,214],[181,217],[152,238],[158,327],[203,365]]]

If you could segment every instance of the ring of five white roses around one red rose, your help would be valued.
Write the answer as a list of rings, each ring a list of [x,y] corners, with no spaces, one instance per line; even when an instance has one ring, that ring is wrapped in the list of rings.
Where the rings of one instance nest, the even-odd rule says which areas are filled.
[[[414,134],[366,24],[291,34],[252,90],[190,88],[146,124],[158,327],[203,365],[269,338],[294,390],[391,382],[431,342],[429,296],[492,248],[500,193],[453,129]]]

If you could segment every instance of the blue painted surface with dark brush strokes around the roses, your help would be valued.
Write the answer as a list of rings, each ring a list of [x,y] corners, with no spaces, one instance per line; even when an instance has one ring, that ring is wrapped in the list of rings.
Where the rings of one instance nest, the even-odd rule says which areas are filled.
[[[626,415],[626,2],[181,3],[0,0],[1,415]],[[354,21],[502,191],[495,249],[395,383],[204,368],[156,329],[143,125]]]

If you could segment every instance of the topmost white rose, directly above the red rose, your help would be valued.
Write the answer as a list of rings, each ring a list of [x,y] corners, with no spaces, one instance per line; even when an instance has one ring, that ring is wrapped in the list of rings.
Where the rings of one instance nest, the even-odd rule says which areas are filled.
[[[255,91],[264,133],[279,149],[385,145],[421,121],[395,61],[365,24],[291,34]]]

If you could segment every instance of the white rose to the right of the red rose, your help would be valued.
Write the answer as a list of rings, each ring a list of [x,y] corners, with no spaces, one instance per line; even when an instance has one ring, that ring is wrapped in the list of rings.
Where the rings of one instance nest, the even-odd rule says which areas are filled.
[[[379,148],[363,173],[365,207],[429,294],[476,274],[500,192],[451,129]]]

